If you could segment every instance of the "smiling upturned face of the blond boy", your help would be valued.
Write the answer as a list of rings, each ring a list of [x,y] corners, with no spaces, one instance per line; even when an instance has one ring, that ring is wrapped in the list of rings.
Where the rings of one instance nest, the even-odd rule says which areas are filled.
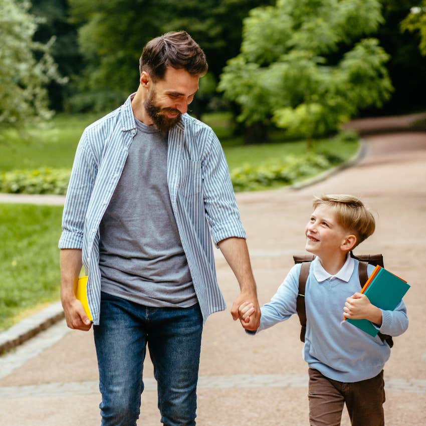
[[[333,207],[320,205],[312,213],[305,235],[306,251],[329,258],[345,252],[345,240],[350,232],[339,224]]]

